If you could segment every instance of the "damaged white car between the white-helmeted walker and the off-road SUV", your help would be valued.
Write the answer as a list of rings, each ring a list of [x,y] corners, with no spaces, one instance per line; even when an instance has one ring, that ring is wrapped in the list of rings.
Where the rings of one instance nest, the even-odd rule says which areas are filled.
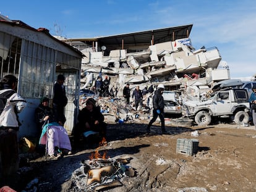
[[[179,104],[179,94],[174,91],[163,91],[164,113],[181,114],[181,104]]]

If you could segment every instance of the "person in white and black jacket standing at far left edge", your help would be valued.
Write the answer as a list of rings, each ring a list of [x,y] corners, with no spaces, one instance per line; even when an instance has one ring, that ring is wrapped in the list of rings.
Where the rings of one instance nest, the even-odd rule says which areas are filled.
[[[2,79],[0,91],[0,186],[8,182],[12,173],[19,168],[18,131],[20,127],[18,113],[26,106],[26,101],[17,90],[17,78],[6,75]]]

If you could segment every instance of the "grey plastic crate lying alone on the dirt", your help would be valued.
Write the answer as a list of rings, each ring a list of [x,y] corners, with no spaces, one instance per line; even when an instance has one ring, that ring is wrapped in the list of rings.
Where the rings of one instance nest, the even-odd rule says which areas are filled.
[[[177,139],[176,152],[192,156],[197,153],[198,143],[199,141],[195,139]]]

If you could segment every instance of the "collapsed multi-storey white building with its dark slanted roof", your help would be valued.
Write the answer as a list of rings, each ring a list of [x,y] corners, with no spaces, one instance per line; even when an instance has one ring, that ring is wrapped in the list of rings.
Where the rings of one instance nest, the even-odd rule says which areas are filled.
[[[160,82],[166,90],[195,86],[202,93],[213,83],[229,79],[229,68],[219,66],[218,48],[195,49],[189,38],[191,30],[192,25],[184,25],[62,41],[84,54],[80,88],[91,88],[99,75],[108,75],[109,89],[119,90],[117,96],[126,83],[131,89]]]

